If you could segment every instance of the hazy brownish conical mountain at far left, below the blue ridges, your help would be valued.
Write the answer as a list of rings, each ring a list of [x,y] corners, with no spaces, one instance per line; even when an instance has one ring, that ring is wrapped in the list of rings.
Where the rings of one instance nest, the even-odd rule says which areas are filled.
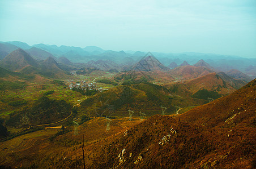
[[[38,64],[27,52],[18,48],[7,55],[5,59],[0,62],[0,66],[10,71],[17,71],[25,66],[38,66]]]

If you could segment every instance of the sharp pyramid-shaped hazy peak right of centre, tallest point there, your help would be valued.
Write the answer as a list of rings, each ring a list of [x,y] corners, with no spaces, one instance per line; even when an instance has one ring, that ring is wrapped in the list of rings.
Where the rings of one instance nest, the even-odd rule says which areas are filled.
[[[143,57],[138,63],[136,63],[132,70],[142,70],[149,72],[151,70],[168,70],[166,66],[160,63],[154,56],[148,54],[148,56]]]

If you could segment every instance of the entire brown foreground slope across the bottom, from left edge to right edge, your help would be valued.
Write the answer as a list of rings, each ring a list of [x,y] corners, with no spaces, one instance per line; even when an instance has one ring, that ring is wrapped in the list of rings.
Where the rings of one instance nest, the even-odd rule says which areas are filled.
[[[112,119],[109,131],[108,120],[97,117],[81,124],[78,135],[75,127],[66,134],[54,135],[53,129],[27,134],[1,144],[1,164],[81,168],[84,135],[86,168],[255,168],[255,91],[256,79],[176,117]]]

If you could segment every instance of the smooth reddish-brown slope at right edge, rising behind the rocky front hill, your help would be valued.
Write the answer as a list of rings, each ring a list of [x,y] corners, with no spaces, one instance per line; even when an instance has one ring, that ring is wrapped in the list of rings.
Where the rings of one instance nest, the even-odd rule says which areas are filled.
[[[255,127],[255,98],[256,79],[231,95],[195,107],[178,118],[181,118],[182,121],[210,127]]]

